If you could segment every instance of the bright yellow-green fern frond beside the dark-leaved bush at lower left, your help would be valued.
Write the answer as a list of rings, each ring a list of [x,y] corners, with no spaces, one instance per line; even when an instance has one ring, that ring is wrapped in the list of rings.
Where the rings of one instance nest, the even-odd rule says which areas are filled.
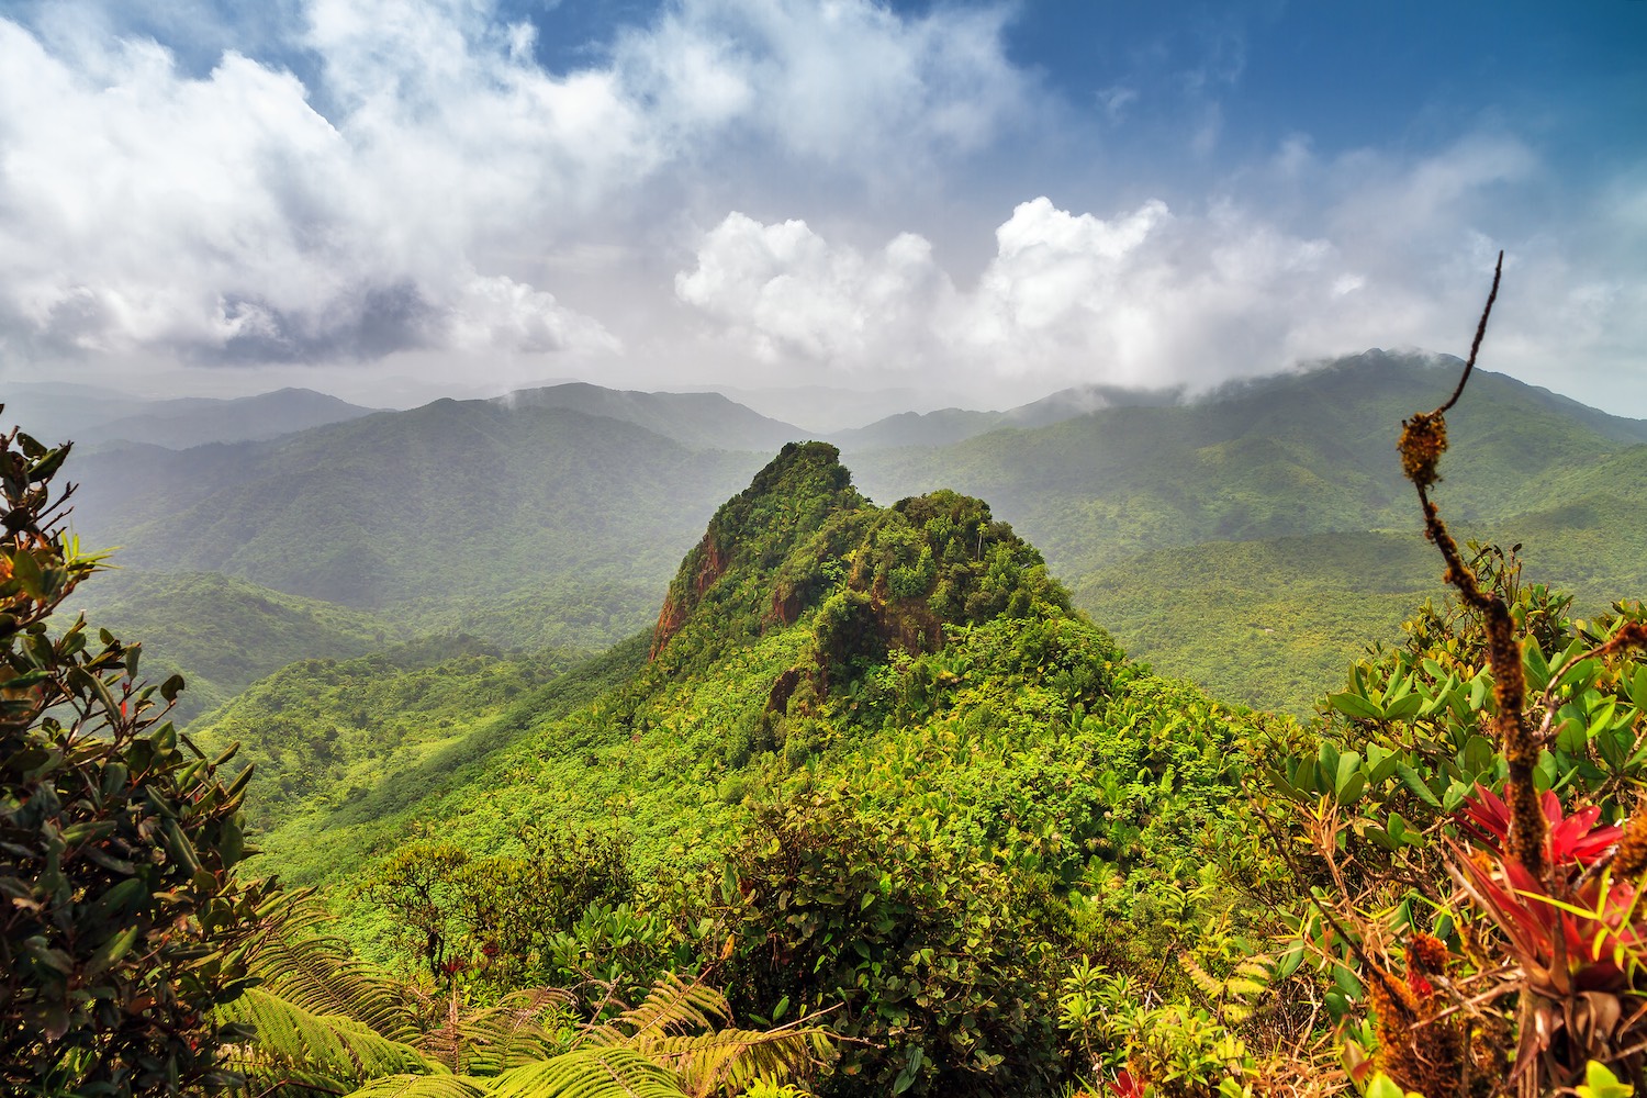
[[[341,1090],[374,1075],[428,1072],[433,1065],[405,1044],[389,1040],[339,1014],[315,1014],[267,988],[247,988],[217,1007],[221,1022],[252,1026],[257,1035],[239,1045],[237,1070],[252,1078],[280,1078]]]

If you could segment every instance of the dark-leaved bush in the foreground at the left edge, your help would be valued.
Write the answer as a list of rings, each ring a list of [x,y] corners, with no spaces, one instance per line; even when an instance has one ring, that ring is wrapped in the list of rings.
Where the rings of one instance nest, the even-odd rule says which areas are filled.
[[[0,405],[3,407],[3,405]],[[102,566],[66,533],[69,446],[0,438],[0,1082],[23,1095],[171,1095],[234,1082],[212,1009],[272,884],[239,882],[240,798],[171,721],[180,677],[53,614]],[[158,696],[156,696],[158,695]]]

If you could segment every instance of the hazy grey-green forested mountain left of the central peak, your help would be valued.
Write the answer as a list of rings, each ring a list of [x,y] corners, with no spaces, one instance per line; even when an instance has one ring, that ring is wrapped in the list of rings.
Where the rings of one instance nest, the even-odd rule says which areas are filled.
[[[759,461],[567,408],[441,400],[278,443],[87,454],[76,523],[135,568],[221,571],[423,624],[567,579],[575,614],[600,584],[631,606],[639,589],[656,598]],[[153,499],[178,502],[153,515]],[[542,632],[555,629],[509,640],[562,639]]]

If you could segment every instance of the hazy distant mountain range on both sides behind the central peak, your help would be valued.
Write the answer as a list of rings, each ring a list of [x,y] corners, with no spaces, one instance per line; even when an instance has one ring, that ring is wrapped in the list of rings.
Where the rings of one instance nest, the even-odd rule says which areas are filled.
[[[1410,542],[1418,528],[1395,435],[1451,392],[1458,367],[1370,351],[1194,400],[1067,390],[1008,412],[891,416],[833,441],[881,504],[939,487],[988,500],[1080,606],[1161,670],[1296,708],[1360,642],[1388,637],[1439,593],[1421,547],[1392,550],[1392,568],[1410,561],[1397,579],[1351,561],[1382,560],[1382,532]],[[1463,533],[1525,542],[1538,579],[1594,606],[1647,593],[1635,504],[1647,421],[1477,372],[1448,425],[1438,500]],[[224,573],[369,611],[399,639],[458,629],[598,649],[656,617],[708,515],[799,436],[715,393],[570,384],[268,441],[110,443],[76,454],[69,476],[84,482],[82,537],[124,547],[133,571]],[[1232,563],[1257,545],[1262,568]],[[1204,583],[1184,586],[1186,575]],[[1377,596],[1364,630],[1342,619],[1334,589]],[[1166,617],[1202,624],[1163,629]],[[1280,639],[1318,655],[1278,700],[1253,685],[1267,663],[1247,658],[1242,637],[1265,639],[1273,667],[1299,665]]]

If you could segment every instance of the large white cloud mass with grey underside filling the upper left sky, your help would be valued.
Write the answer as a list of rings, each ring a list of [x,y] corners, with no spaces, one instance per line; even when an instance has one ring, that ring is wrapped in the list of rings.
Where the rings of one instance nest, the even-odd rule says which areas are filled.
[[[751,137],[845,171],[942,156],[1024,89],[1005,8],[677,0],[552,72],[484,0],[306,0],[306,82],[41,12],[0,20],[0,349],[25,359],[611,352],[555,252],[637,184]]]

